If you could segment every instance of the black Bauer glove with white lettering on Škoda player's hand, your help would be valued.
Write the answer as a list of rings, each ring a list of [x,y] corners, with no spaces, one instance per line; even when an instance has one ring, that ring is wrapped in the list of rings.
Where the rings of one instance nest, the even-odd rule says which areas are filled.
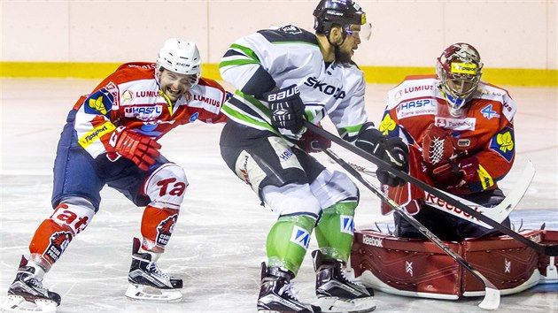
[[[281,134],[294,136],[304,126],[304,103],[297,85],[264,94],[271,111],[271,126]]]

